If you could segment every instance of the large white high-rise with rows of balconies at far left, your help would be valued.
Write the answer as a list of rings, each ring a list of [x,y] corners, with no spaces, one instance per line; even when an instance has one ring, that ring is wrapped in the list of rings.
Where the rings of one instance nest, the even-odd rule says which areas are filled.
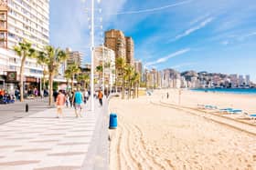
[[[9,81],[7,73],[19,75],[20,57],[13,51],[23,39],[36,50],[49,43],[49,0],[1,0],[0,3],[0,86],[13,90],[16,80]],[[43,76],[43,66],[36,59],[27,58],[25,65],[25,89],[37,85]]]

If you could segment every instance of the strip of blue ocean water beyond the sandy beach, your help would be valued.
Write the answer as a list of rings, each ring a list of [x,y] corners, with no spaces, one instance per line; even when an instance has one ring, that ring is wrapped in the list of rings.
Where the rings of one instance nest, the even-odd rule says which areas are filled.
[[[256,88],[195,88],[192,91],[256,95]]]

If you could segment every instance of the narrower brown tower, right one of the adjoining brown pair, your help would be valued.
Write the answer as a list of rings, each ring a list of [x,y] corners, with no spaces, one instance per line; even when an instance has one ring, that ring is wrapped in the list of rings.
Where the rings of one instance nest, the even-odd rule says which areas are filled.
[[[130,36],[125,37],[126,40],[126,63],[134,65],[134,43]]]

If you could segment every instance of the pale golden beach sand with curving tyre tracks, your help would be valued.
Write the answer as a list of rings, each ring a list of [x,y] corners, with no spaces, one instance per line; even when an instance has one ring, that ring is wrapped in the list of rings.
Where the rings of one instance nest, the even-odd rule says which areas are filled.
[[[109,109],[118,127],[109,130],[111,170],[256,169],[256,135],[182,110],[210,104],[254,112],[255,96],[184,90],[180,104],[178,96],[177,90],[159,90],[137,99],[112,98]],[[250,128],[256,132],[256,125]]]

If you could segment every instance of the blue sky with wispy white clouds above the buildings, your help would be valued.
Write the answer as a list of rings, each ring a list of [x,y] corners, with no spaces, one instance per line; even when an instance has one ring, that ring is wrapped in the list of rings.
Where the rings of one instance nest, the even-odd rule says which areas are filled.
[[[256,83],[255,0],[95,0],[95,45],[103,33],[132,36],[146,68],[251,75]],[[91,61],[91,0],[50,0],[50,44]]]

